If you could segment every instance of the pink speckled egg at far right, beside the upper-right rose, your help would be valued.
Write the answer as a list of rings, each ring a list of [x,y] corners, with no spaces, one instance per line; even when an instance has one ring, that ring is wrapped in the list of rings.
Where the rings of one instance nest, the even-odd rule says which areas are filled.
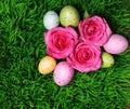
[[[120,35],[112,35],[103,46],[104,50],[110,54],[119,54],[128,47],[128,41]]]

